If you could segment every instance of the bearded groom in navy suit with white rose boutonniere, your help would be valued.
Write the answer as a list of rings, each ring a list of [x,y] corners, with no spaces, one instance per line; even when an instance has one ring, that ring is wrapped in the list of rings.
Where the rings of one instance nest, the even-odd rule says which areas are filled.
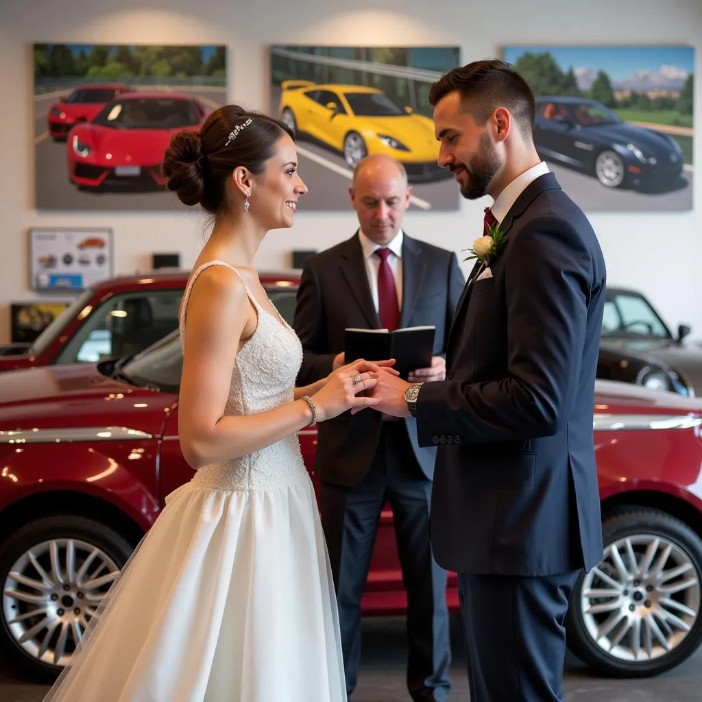
[[[381,374],[376,407],[439,446],[431,534],[458,572],[474,702],[562,700],[564,618],[602,559],[592,409],[605,269],[595,232],[534,147],[534,95],[508,64],[430,90],[439,164],[494,199],[453,319],[446,380]],[[388,378],[382,377],[388,376]]]

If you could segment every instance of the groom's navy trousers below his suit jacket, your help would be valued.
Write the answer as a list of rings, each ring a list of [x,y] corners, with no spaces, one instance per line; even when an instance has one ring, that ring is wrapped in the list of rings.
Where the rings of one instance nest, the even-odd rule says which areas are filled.
[[[580,571],[458,575],[472,702],[561,702],[564,620]]]

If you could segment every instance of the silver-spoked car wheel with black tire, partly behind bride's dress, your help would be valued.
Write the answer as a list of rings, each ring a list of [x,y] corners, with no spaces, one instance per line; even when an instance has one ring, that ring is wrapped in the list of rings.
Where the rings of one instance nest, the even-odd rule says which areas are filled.
[[[56,568],[52,551],[58,555]],[[92,589],[85,587],[85,578],[90,582],[110,574],[116,576],[132,551],[128,541],[110,527],[74,515],[37,519],[11,534],[0,548],[0,647],[12,662],[13,670],[32,682],[55,680],[76,644],[73,622],[84,627],[91,616],[89,610],[97,607],[100,601],[94,598],[104,595],[110,587],[110,582]],[[69,553],[74,559],[73,580],[67,572]],[[81,574],[81,565],[86,561],[88,573],[79,581],[75,576]],[[44,570],[43,576],[35,564]],[[60,577],[55,577],[57,570]],[[15,579],[18,575],[24,577],[22,582]],[[41,587],[27,584],[26,578],[37,581]],[[84,585],[82,589],[81,583]],[[33,598],[33,602],[30,604],[20,599],[22,593]],[[37,601],[37,595],[41,602]],[[37,607],[39,614],[26,616],[28,611],[34,611],[32,607]],[[16,621],[15,618],[22,615],[25,617]],[[48,627],[45,627],[29,635],[25,642],[20,642],[22,634],[41,621],[53,625],[53,634],[49,635]],[[65,640],[60,642],[60,633],[64,629],[67,629]],[[43,646],[46,647],[44,653],[41,651]],[[55,664],[57,649],[64,651],[59,659],[62,659],[60,665]]]

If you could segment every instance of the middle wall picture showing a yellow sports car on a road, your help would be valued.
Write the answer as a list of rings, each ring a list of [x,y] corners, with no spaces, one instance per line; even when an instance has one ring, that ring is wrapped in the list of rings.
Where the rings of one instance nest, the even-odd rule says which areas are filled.
[[[365,156],[397,159],[410,209],[458,209],[451,172],[437,164],[432,83],[460,65],[458,46],[272,46],[270,114],[296,135],[307,210],[349,208],[353,169]]]

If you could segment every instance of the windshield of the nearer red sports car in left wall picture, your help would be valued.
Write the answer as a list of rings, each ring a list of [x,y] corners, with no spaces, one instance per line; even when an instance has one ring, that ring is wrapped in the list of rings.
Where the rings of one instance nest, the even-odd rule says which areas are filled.
[[[190,100],[131,98],[105,105],[93,124],[117,129],[175,129],[194,126],[198,121]]]

